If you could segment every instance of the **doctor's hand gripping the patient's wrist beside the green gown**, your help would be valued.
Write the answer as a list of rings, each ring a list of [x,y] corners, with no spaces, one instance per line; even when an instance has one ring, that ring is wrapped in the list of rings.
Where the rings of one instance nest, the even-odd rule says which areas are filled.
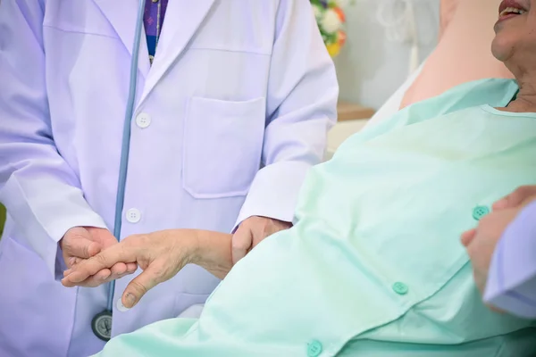
[[[254,216],[244,220],[232,237],[233,264],[244,258],[264,238],[290,227],[292,224],[289,222],[267,217]]]

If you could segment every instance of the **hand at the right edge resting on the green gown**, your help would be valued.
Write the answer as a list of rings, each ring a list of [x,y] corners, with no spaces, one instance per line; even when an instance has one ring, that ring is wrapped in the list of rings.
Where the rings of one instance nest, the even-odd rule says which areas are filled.
[[[480,220],[477,228],[462,235],[462,244],[473,264],[475,284],[483,294],[498,241],[523,208],[536,200],[536,187],[520,187],[493,204],[493,212]]]

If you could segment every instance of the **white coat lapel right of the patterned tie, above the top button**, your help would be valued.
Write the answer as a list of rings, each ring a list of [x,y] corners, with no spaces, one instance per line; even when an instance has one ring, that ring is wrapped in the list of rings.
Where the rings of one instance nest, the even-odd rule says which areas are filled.
[[[214,0],[172,0],[169,2],[162,34],[156,48],[155,60],[149,71],[140,104],[188,46],[188,42],[196,34],[213,4]]]

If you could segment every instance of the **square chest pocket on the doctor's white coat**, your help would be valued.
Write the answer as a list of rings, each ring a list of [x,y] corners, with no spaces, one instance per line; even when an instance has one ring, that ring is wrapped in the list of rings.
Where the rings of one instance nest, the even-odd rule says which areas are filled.
[[[192,97],[184,130],[182,183],[195,198],[247,195],[261,165],[265,99]]]

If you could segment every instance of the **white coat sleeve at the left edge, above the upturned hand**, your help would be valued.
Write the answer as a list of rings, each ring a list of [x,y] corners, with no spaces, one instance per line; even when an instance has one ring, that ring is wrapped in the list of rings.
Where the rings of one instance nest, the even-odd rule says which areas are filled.
[[[58,153],[48,110],[43,47],[45,0],[0,3],[0,202],[22,244],[58,278],[58,242],[76,226],[105,228],[80,180]],[[9,232],[7,232],[9,234]]]

